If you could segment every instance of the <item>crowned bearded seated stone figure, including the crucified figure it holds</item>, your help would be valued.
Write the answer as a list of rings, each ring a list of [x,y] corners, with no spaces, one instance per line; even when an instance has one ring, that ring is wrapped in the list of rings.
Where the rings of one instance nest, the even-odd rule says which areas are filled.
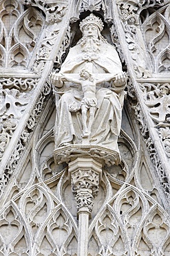
[[[82,39],[70,49],[59,74],[52,74],[54,91],[61,95],[56,102],[56,147],[89,144],[118,150],[127,78],[114,46],[100,34],[101,19],[91,14],[80,29]]]

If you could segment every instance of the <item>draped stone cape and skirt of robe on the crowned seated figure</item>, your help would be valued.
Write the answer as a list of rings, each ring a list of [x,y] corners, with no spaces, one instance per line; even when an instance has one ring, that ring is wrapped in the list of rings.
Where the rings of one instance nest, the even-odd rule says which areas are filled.
[[[101,43],[98,51],[83,51],[81,44],[70,48],[61,66],[61,73],[79,73],[87,68],[95,77],[98,73],[121,73],[122,65],[114,46]],[[118,151],[125,84],[112,84],[112,88],[96,88],[97,107],[89,137],[90,145],[103,145]],[[81,85],[65,82],[56,102],[56,147],[67,144],[82,144]],[[69,110],[73,106],[72,111]]]

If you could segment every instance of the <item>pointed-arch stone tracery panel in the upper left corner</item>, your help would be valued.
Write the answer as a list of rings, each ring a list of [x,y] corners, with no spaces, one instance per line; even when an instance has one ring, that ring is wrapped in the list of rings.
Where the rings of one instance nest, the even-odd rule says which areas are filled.
[[[1,1],[0,10],[0,67],[25,68],[41,32],[43,15],[35,8],[24,10],[17,0]]]

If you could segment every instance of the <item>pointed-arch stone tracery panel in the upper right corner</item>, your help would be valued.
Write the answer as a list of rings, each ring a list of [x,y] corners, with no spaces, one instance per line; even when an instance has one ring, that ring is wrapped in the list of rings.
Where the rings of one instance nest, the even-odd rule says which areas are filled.
[[[151,57],[154,73],[169,73],[170,66],[170,6],[158,10],[144,10],[142,31]]]

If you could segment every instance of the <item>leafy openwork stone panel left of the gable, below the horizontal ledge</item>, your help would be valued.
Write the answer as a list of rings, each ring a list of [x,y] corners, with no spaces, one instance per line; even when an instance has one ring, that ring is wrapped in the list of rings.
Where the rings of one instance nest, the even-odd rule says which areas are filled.
[[[32,89],[38,79],[1,78],[0,79],[0,159],[10,143],[23,111],[30,102]]]

